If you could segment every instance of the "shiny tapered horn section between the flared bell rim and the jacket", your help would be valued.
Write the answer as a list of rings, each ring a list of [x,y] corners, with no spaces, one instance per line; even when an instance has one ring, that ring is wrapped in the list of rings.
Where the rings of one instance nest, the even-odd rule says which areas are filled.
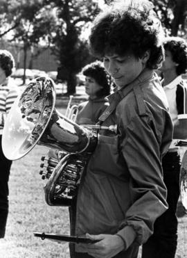
[[[96,135],[54,110],[48,128],[38,144],[69,153],[92,152],[96,146]]]

